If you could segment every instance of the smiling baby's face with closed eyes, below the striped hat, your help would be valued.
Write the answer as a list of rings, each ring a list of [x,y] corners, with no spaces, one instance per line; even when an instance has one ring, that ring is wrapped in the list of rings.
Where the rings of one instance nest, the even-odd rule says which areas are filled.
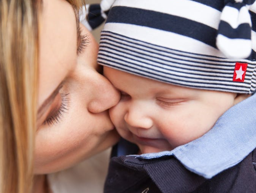
[[[235,103],[234,93],[180,87],[104,67],[120,90],[110,117],[119,134],[142,153],[172,150],[214,126]]]

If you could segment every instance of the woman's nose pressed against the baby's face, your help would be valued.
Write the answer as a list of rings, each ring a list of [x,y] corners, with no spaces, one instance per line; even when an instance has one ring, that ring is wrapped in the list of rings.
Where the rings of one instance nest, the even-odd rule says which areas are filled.
[[[100,74],[98,74],[97,83],[93,87],[93,98],[88,105],[88,110],[92,113],[103,112],[115,106],[120,100],[120,92]]]

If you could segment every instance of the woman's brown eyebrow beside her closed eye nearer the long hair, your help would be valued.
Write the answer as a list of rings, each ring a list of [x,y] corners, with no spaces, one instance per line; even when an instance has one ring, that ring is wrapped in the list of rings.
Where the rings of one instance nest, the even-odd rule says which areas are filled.
[[[53,102],[54,98],[60,91],[60,88],[62,88],[62,85],[63,85],[63,81],[58,85],[57,88],[55,88],[55,90],[52,92],[52,94],[49,97],[47,97],[47,99],[45,99],[43,104],[38,108],[37,120],[39,120],[42,117],[42,115],[44,114],[44,112],[49,108],[49,106],[51,106],[51,103]]]

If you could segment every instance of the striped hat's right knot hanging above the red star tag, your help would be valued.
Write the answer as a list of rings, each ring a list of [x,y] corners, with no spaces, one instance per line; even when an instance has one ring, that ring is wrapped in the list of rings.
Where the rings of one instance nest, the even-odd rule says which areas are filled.
[[[252,21],[249,8],[255,1],[224,1],[225,7],[220,16],[216,45],[227,58],[242,59],[251,54]]]

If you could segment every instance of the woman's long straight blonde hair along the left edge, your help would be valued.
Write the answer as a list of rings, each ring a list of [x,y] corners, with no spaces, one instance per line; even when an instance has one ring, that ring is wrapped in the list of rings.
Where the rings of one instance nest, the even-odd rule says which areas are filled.
[[[41,3],[0,0],[0,193],[28,193],[32,186]]]

